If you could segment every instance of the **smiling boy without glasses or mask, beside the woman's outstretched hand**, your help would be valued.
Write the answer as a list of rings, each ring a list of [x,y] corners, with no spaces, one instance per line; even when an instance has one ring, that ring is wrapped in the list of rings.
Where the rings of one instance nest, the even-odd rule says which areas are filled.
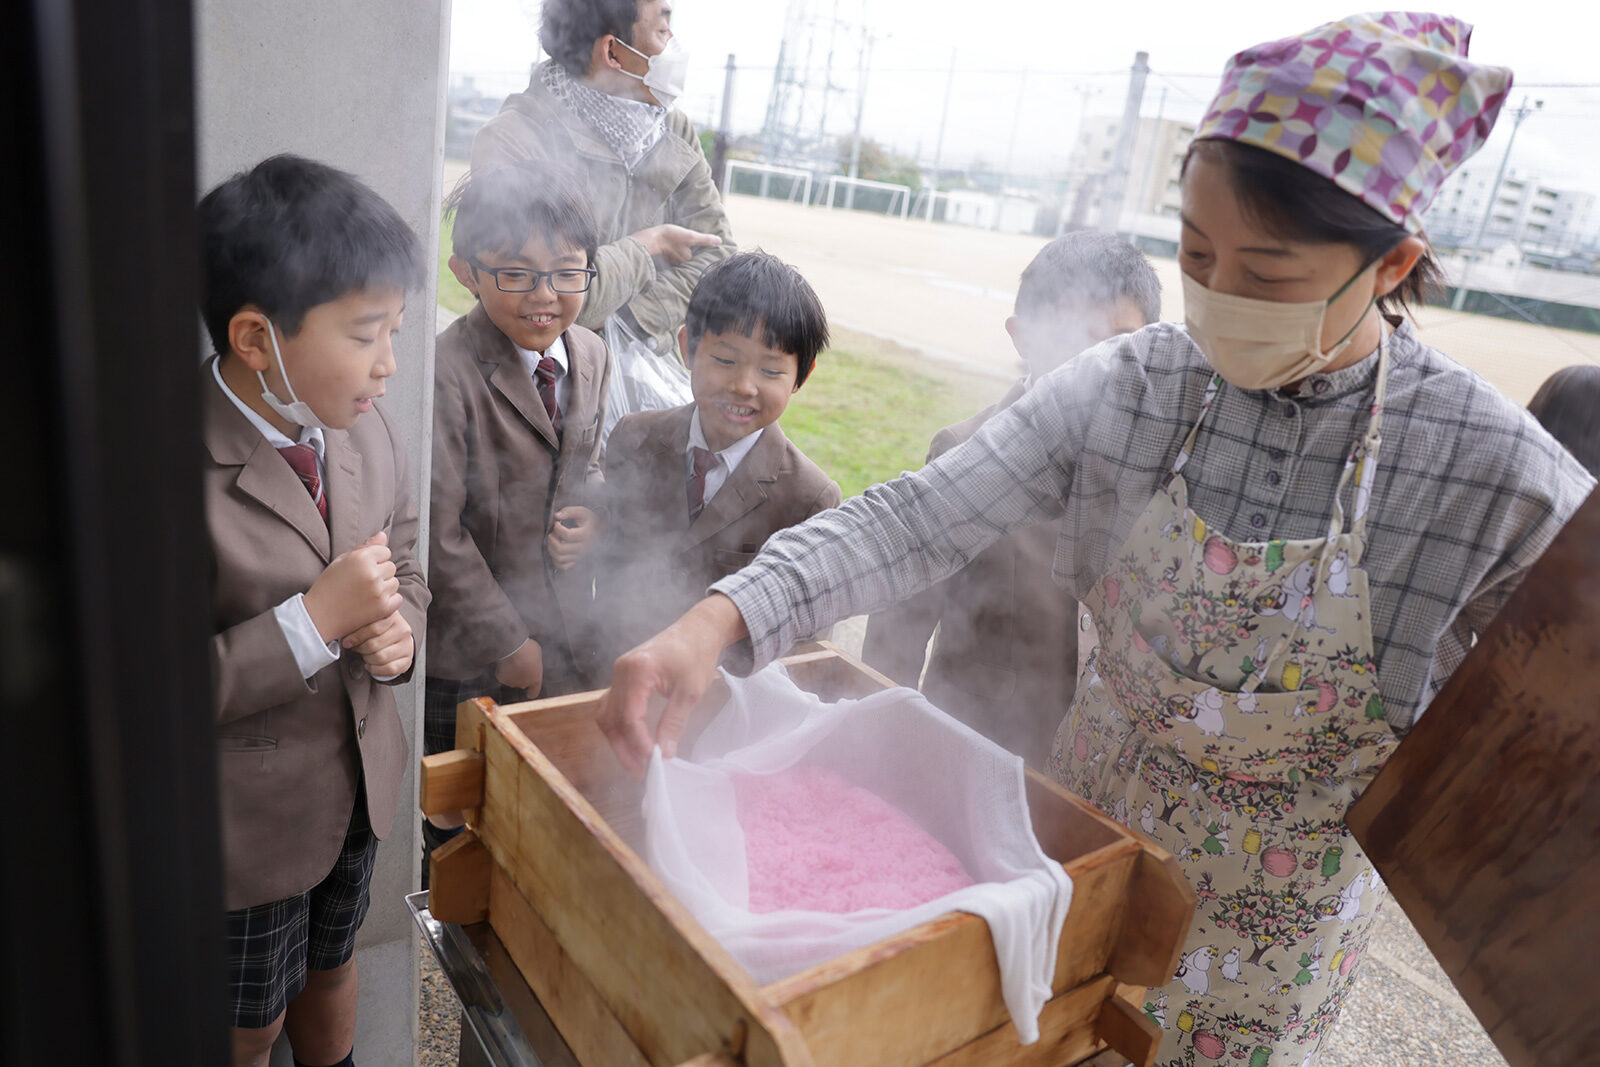
[[[597,579],[606,669],[771,534],[842,499],[778,426],[827,344],[822,304],[794,267],[766,253],[715,264],[678,341],[694,402],[626,416],[606,445]]]

